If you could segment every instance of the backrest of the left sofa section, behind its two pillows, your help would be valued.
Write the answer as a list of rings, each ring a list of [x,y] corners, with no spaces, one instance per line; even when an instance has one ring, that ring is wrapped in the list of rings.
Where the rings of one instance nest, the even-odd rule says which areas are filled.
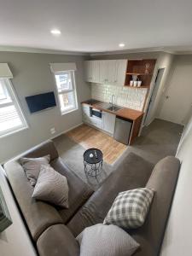
[[[18,162],[9,161],[4,165],[4,169],[34,241],[37,241],[38,236],[50,225],[63,223],[55,207],[32,198],[33,188]]]

